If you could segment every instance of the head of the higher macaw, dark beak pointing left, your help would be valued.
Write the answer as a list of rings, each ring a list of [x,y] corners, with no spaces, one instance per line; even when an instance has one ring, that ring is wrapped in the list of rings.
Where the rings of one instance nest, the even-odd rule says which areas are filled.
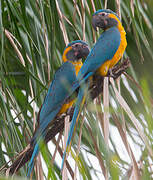
[[[92,26],[97,31],[97,27],[106,30],[118,26],[120,19],[116,13],[109,9],[100,9],[93,14]]]

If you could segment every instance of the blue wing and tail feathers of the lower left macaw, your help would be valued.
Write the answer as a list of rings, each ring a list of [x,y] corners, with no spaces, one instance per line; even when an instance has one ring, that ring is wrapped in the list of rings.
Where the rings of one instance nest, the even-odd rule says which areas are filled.
[[[71,87],[76,81],[75,68],[70,62],[64,63],[55,73],[54,79],[48,89],[44,103],[39,114],[39,127],[35,132],[32,142],[34,151],[28,165],[28,176],[31,174],[34,158],[39,152],[39,142],[46,134],[46,128],[59,113],[64,100],[69,96]]]

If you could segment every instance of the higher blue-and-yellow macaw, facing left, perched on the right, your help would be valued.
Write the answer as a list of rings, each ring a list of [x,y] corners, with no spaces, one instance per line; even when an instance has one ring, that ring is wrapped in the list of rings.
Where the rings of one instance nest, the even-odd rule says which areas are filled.
[[[113,11],[108,9],[96,11],[92,17],[92,26],[95,30],[99,27],[103,29],[104,32],[100,35],[81,67],[77,76],[78,81],[74,84],[73,90],[75,90],[78,86],[81,86],[81,84],[83,84],[85,80],[94,73],[106,76],[108,70],[121,59],[127,46],[126,32],[119,17]],[[80,107],[84,101],[85,91],[83,89],[84,88],[79,89],[66,149],[63,155],[62,169],[66,151],[73,135],[74,126],[79,116]]]

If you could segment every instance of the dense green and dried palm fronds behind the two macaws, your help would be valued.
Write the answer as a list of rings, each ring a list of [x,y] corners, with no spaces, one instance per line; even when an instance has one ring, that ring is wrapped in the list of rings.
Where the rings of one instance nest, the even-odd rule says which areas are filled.
[[[121,15],[128,42],[124,57],[130,58],[131,67],[119,82],[121,99],[118,100],[113,86],[109,88],[110,130],[105,132],[109,133],[108,145],[103,136],[102,97],[94,103],[97,108],[90,104],[83,111],[85,122],[82,126],[80,118],[71,153],[73,156],[79,150],[82,126],[80,154],[78,159],[74,158],[79,168],[77,177],[105,176],[115,180],[153,177],[152,0],[0,1],[0,167],[27,146],[38,108],[62,63],[65,45],[83,39],[93,46],[99,33],[93,32],[91,16],[104,6]],[[49,147],[53,155],[55,148]],[[55,165],[51,166],[51,155],[42,154],[48,169],[44,178],[61,179],[61,159],[56,157]],[[74,163],[72,167],[75,173]],[[17,175],[24,177],[26,170],[24,166]],[[42,178],[42,172],[37,168],[37,179]]]

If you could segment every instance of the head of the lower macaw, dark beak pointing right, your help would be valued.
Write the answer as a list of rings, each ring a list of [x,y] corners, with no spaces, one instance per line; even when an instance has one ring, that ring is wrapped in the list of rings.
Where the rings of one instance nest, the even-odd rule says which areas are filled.
[[[63,52],[63,61],[77,62],[81,58],[86,58],[89,54],[88,44],[81,40],[69,43]]]

